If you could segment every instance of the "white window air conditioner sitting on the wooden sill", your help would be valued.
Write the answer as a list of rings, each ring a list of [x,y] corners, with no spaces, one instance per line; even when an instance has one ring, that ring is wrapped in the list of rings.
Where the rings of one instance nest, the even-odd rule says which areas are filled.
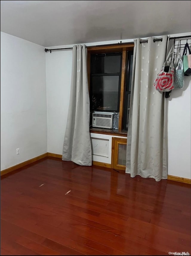
[[[113,128],[113,112],[98,112],[92,114],[92,127]]]

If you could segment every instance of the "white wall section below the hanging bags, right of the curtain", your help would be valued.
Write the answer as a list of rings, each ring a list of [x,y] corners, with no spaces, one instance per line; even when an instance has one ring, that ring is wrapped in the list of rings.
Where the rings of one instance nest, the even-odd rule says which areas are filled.
[[[168,99],[168,174],[191,179],[190,164],[190,77],[184,88],[173,90]]]

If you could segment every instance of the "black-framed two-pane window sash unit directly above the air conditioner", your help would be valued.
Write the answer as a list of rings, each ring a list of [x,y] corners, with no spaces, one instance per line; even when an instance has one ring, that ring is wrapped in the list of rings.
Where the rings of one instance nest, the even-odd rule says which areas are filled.
[[[90,110],[118,111],[122,54],[91,56]]]

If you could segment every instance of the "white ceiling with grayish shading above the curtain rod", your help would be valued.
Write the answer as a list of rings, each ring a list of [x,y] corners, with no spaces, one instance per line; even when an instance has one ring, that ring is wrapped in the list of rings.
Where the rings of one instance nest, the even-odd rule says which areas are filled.
[[[1,31],[44,47],[191,31],[191,1],[1,1]]]

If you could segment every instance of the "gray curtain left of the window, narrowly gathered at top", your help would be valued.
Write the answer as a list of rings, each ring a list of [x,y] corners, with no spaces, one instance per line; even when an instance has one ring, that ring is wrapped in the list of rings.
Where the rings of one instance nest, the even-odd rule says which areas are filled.
[[[92,165],[90,142],[90,99],[87,82],[85,45],[73,46],[70,103],[62,160],[79,165]]]

